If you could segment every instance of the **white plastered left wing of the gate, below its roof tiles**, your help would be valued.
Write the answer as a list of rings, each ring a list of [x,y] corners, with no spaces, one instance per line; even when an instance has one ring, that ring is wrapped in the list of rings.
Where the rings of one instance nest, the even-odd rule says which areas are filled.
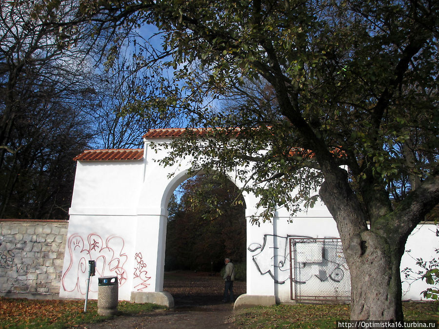
[[[119,277],[119,298],[130,299],[143,170],[143,160],[78,161],[60,297],[85,297],[88,261],[96,260],[89,298],[98,297],[98,277],[112,275]]]

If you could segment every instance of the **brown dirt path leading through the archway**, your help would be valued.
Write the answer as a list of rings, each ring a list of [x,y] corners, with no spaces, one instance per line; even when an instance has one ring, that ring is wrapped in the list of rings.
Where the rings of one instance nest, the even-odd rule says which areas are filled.
[[[205,272],[165,273],[164,289],[175,301],[174,310],[158,310],[138,316],[118,316],[87,328],[236,328],[233,303],[223,303],[220,276]],[[245,283],[235,282],[235,298],[245,293]]]

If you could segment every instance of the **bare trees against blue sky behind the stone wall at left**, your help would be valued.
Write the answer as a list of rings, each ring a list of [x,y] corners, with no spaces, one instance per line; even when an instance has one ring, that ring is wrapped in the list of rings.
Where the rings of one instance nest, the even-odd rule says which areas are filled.
[[[154,97],[161,75],[132,73],[128,50],[106,67],[103,52],[113,45],[106,38],[115,29],[98,33],[75,21],[79,6],[1,0],[0,218],[66,219],[75,155],[140,147],[148,129],[172,123],[164,115],[121,116],[134,95],[139,107]]]

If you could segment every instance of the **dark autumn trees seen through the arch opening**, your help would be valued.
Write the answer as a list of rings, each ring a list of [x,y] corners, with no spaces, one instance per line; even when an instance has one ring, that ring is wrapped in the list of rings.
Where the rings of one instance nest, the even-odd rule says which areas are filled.
[[[166,270],[220,271],[225,257],[245,263],[245,208],[237,189],[208,175],[180,185],[168,206]]]

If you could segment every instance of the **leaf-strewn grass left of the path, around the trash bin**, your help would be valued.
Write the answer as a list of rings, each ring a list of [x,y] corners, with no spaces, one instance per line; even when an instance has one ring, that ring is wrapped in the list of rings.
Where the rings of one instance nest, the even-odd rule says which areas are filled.
[[[136,315],[162,307],[155,304],[119,302],[119,315]],[[98,302],[89,300],[30,300],[0,297],[1,328],[66,328],[96,323],[111,316],[98,315]]]

